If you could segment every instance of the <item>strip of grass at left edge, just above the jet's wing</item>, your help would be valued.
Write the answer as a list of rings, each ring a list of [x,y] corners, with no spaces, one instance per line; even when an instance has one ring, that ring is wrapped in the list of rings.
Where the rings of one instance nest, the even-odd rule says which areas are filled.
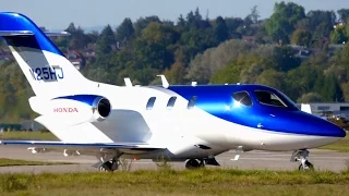
[[[51,132],[3,132],[0,139],[39,139],[39,140],[58,140]]]

